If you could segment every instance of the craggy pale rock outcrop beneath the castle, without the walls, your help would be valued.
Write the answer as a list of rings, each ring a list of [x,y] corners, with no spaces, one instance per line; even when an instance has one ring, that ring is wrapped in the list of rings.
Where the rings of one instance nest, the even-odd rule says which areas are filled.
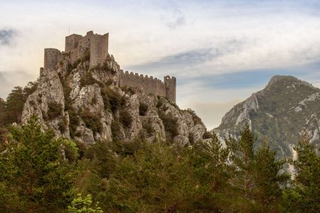
[[[206,127],[191,109],[181,110],[142,87],[119,87],[119,65],[108,56],[103,67],[89,59],[73,65],[68,55],[55,69],[41,69],[38,88],[23,107],[22,120],[36,114],[43,129],[92,144],[98,140],[169,140],[181,145],[203,138]]]

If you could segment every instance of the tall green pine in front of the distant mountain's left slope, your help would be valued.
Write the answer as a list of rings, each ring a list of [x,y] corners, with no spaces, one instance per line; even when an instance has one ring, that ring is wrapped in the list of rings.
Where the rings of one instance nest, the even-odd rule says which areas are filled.
[[[240,132],[240,139],[230,138],[227,143],[231,150],[230,160],[234,165],[234,176],[230,179],[235,189],[238,202],[235,209],[244,212],[277,211],[281,199],[281,185],[288,175],[279,173],[284,160],[275,160],[275,152],[267,146],[254,151],[257,138],[245,125]]]

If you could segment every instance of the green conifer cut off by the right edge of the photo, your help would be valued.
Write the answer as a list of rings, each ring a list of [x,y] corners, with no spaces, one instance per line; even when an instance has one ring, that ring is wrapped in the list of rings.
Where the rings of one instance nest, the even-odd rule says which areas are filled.
[[[294,148],[298,158],[292,164],[297,174],[283,193],[284,212],[320,212],[320,156],[309,141],[304,133]]]

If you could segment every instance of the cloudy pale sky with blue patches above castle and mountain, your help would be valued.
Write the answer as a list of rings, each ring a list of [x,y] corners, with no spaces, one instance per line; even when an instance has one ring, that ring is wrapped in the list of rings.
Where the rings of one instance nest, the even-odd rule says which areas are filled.
[[[0,97],[34,81],[43,49],[110,33],[122,70],[177,79],[177,104],[208,129],[273,75],[320,87],[318,0],[0,0]],[[70,32],[69,32],[70,29]]]

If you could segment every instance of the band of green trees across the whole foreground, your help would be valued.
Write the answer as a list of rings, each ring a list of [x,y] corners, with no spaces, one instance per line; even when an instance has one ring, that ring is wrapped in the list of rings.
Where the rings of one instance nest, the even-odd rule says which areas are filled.
[[[223,146],[55,138],[36,116],[0,150],[0,212],[320,212],[320,157],[299,141],[294,180],[245,126]]]

